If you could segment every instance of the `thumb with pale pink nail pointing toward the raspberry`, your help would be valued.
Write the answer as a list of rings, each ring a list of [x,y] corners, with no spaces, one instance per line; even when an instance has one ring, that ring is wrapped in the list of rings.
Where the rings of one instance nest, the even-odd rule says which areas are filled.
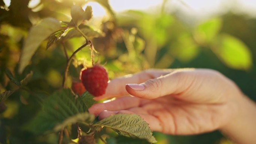
[[[154,99],[176,93],[178,79],[176,74],[171,73],[156,79],[147,80],[141,84],[127,84],[125,89],[132,96]]]

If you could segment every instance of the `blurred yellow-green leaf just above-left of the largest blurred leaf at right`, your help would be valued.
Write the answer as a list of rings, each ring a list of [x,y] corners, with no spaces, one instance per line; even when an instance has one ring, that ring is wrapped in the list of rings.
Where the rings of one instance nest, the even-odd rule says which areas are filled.
[[[195,33],[197,36],[200,37],[200,39],[206,42],[211,42],[214,39],[214,37],[217,36],[221,27],[222,27],[221,19],[214,18],[200,24],[196,28]]]

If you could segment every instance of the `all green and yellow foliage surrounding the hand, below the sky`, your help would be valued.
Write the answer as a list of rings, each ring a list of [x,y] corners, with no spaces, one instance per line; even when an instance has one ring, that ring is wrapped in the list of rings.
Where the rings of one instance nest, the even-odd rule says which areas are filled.
[[[77,138],[77,125],[82,137],[95,135],[97,143],[106,137],[113,144],[155,142],[139,116],[98,121],[87,111],[95,103],[93,96],[70,90],[80,71],[92,63],[88,40],[95,48],[95,61],[106,63],[110,79],[147,68],[212,68],[256,100],[255,19],[227,13],[191,26],[165,10],[115,13],[108,0],[89,1],[108,12],[101,25],[93,23],[94,7],[88,1],[41,0],[28,7],[29,0],[11,0],[7,7],[0,0],[0,105],[7,107],[0,113],[0,143],[56,144],[58,132],[64,133],[63,143],[71,143]],[[140,133],[125,123],[141,123],[146,130]],[[216,144],[223,139],[217,131],[153,134],[159,144]]]

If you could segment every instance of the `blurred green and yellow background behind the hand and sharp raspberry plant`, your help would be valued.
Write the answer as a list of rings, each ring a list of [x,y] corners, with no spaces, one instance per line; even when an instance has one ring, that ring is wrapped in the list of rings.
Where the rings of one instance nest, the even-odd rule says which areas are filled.
[[[70,21],[70,7],[92,6],[90,27],[105,37],[93,39],[110,79],[148,68],[211,68],[232,79],[256,101],[255,0],[0,0],[0,92],[18,89],[5,75],[9,68],[21,80],[34,72],[27,87],[37,97],[17,91],[1,112],[0,142],[28,143],[33,135],[19,127],[40,109],[38,99],[61,88],[65,55],[61,43],[46,50],[43,42],[22,74],[18,74],[23,41],[43,18]],[[82,37],[62,41],[71,55]],[[79,78],[80,65],[90,64],[89,49],[76,55],[69,85]],[[154,133],[157,144],[232,144],[218,132],[194,136]],[[52,144],[56,135],[37,138]]]

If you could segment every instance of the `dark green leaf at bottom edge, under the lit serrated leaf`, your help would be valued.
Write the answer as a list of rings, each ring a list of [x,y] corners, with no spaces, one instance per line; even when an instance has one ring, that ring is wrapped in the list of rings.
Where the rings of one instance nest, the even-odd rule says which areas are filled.
[[[147,140],[125,137],[122,135],[118,135],[114,138],[107,138],[106,141],[108,144],[151,144]]]

